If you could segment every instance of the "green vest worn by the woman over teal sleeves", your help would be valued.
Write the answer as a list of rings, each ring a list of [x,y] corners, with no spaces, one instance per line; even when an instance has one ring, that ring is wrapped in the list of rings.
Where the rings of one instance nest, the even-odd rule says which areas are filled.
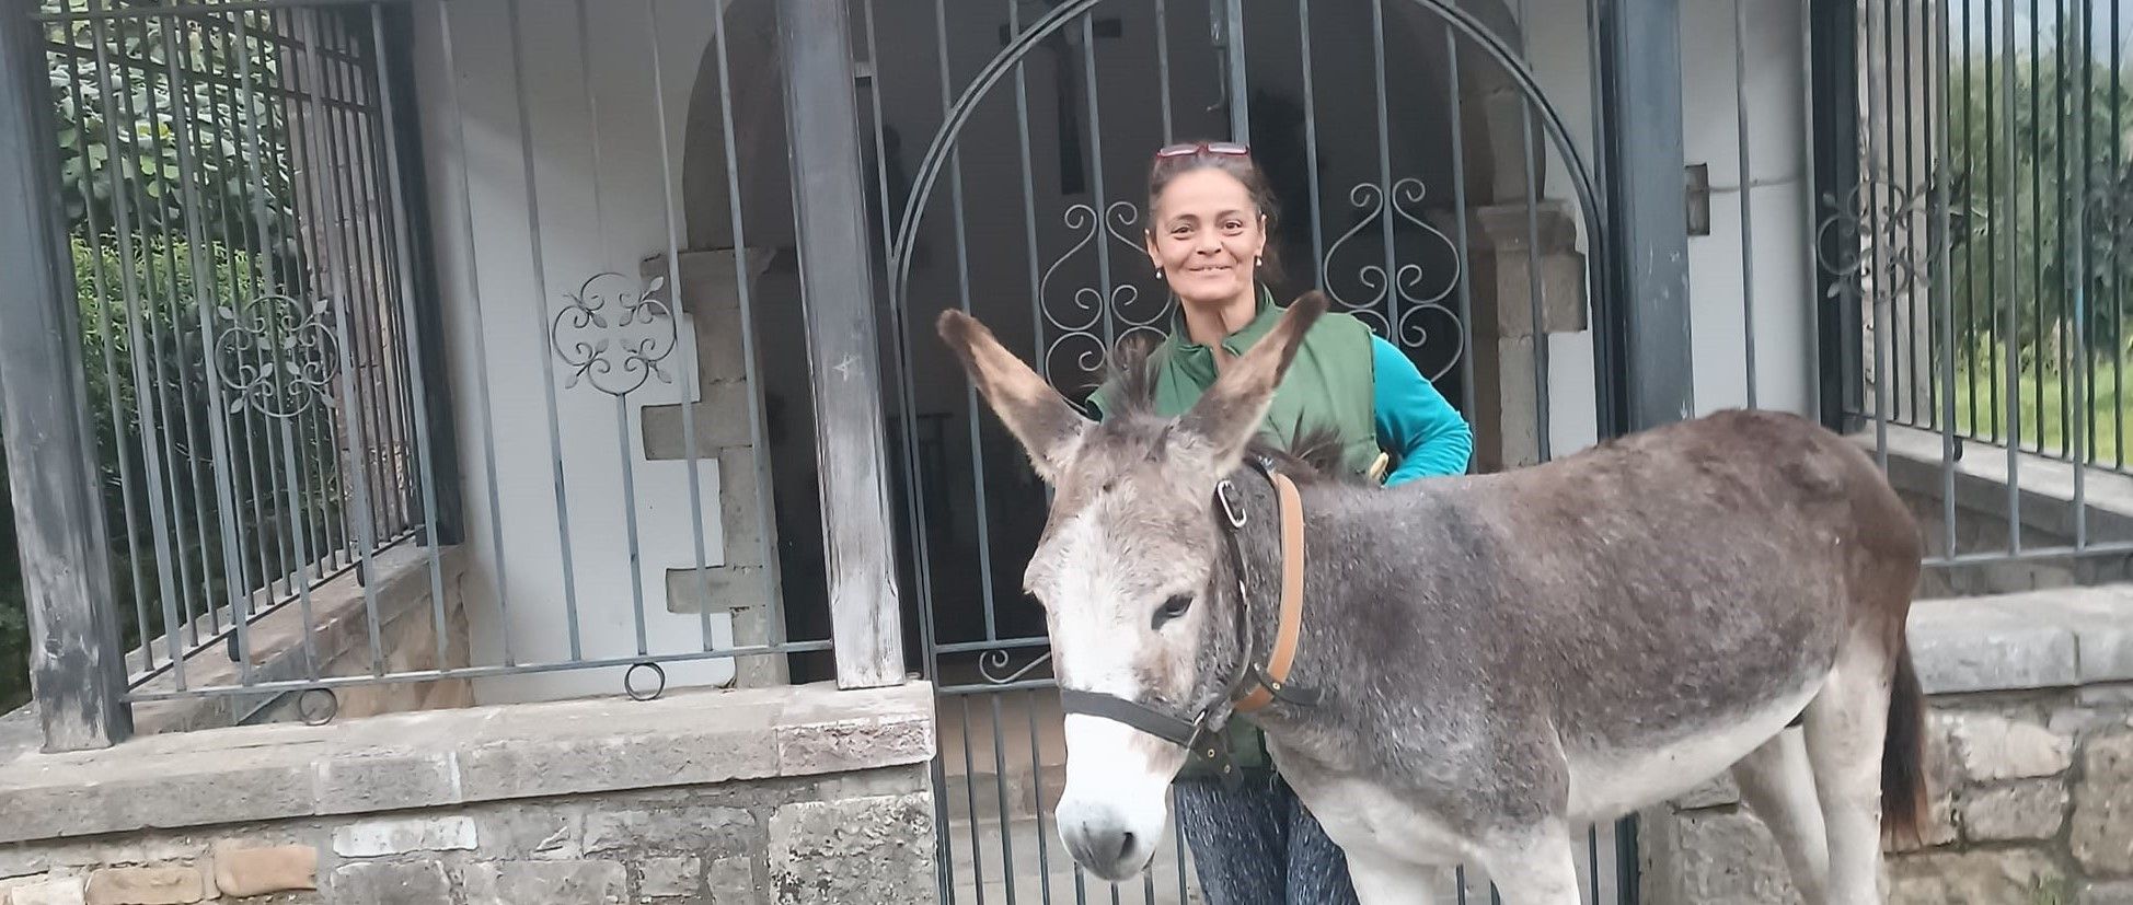
[[[1222,341],[1222,349],[1241,356],[1258,343],[1280,322],[1284,307],[1273,305],[1273,292],[1258,287],[1258,315],[1241,330]],[[1156,351],[1156,413],[1177,417],[1186,413],[1214,385],[1214,349],[1194,343],[1186,334],[1184,311],[1171,315],[1171,334]],[[1365,475],[1378,464],[1378,422],[1376,373],[1372,371],[1369,326],[1354,315],[1327,311],[1303,334],[1295,362],[1273,390],[1273,402],[1261,424],[1261,434],[1273,443],[1333,428],[1342,441],[1342,462],[1350,471]],[[1090,402],[1105,411],[1105,392],[1098,388]],[[1265,735],[1248,720],[1233,718],[1224,728],[1231,758],[1239,769],[1261,773],[1271,767]],[[1209,775],[1203,767],[1188,764],[1180,777]]]

